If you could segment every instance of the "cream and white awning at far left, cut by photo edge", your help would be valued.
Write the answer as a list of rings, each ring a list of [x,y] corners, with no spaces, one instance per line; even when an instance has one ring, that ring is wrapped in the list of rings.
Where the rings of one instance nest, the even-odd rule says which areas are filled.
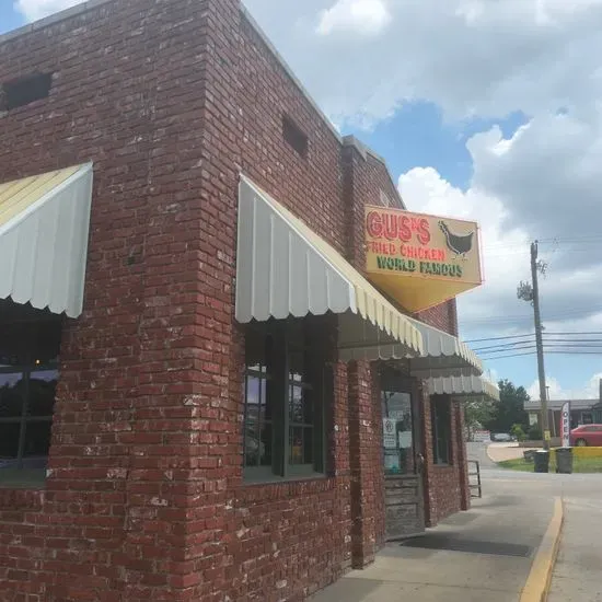
[[[0,184],[0,299],[82,311],[92,165]]]

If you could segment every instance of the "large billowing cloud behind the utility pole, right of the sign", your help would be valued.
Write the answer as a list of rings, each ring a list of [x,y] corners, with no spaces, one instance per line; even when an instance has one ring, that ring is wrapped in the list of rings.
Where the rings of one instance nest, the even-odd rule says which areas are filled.
[[[466,143],[474,169],[467,190],[430,167],[400,177],[412,209],[481,223],[485,286],[459,298],[461,323],[470,332],[532,332],[532,310],[517,299],[517,285],[531,280],[530,241],[556,238],[557,244],[540,245],[548,263],[540,281],[544,324],[563,332],[575,331],[578,321],[583,331],[600,325],[600,123],[543,115],[510,139],[497,127],[475,135]]]

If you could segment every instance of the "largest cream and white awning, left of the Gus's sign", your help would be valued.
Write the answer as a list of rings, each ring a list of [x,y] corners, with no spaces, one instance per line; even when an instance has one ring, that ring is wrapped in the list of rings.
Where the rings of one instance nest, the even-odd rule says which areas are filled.
[[[422,337],[372,285],[299,218],[241,177],[235,316],[337,314],[339,358],[420,355]]]

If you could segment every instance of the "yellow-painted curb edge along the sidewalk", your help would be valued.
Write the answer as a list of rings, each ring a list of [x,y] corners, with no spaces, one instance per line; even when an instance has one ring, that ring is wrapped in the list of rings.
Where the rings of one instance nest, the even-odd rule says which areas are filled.
[[[558,556],[564,522],[565,509],[563,500],[562,498],[555,498],[554,514],[535,554],[531,572],[521,592],[520,602],[545,602],[547,600],[552,571]]]

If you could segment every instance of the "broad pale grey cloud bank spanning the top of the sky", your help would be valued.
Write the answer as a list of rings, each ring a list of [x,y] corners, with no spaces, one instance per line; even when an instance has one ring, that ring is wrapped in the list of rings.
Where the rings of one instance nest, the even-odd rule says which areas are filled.
[[[361,18],[350,10],[360,0],[331,2],[245,0],[337,120],[370,127],[407,100],[448,117],[584,114],[602,96],[600,0],[363,0],[383,8]]]

